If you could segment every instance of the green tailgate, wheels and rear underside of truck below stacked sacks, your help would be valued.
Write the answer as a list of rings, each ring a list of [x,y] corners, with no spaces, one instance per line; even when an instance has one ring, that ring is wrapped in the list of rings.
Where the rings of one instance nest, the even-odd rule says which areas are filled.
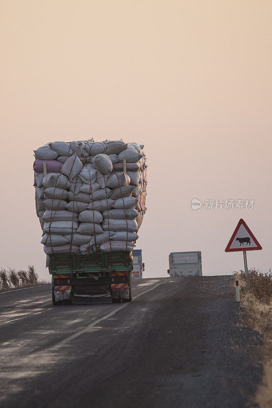
[[[50,256],[52,303],[117,303],[132,300],[132,252]]]

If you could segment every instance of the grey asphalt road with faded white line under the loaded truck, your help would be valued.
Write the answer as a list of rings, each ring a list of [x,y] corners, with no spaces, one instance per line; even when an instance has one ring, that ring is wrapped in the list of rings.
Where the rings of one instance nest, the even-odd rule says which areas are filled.
[[[142,279],[133,294],[53,308],[50,285],[0,293],[0,406],[248,406],[261,340],[231,276]]]

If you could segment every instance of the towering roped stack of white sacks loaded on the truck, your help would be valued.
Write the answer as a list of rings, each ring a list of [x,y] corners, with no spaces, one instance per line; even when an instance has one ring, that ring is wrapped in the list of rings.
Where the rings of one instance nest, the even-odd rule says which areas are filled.
[[[133,249],[146,210],[142,148],[90,139],[34,151],[36,212],[47,255]]]

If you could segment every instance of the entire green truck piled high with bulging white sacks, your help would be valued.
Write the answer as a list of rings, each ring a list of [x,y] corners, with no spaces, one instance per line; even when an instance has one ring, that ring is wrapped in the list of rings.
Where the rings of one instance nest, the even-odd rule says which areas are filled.
[[[132,300],[133,248],[146,210],[142,148],[89,139],[34,150],[36,213],[54,305]]]

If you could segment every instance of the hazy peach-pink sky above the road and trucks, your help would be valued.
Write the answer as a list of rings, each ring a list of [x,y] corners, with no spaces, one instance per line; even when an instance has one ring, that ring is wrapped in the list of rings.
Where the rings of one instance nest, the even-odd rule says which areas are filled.
[[[0,0],[1,262],[48,277],[35,213],[33,150],[122,137],[145,145],[145,276],[171,251],[201,250],[203,273],[243,267],[225,253],[240,218],[272,267],[271,1]],[[252,210],[193,211],[254,199]]]

